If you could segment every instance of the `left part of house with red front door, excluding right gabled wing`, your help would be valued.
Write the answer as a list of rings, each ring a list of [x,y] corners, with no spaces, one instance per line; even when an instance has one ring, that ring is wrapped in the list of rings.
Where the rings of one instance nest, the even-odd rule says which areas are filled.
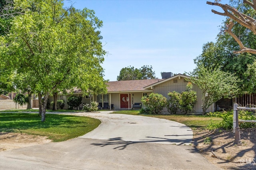
[[[99,109],[115,109],[115,110],[126,110],[134,108],[134,105],[140,104],[143,107],[141,98],[145,95],[152,93],[152,90],[144,89],[145,86],[151,85],[162,79],[143,79],[143,80],[126,80],[126,81],[109,81],[107,83],[107,93],[104,95],[86,95],[80,89],[74,89],[72,94],[58,94],[57,100],[64,100],[65,103],[67,99],[72,96],[83,96],[82,104],[90,103],[90,101],[96,101],[99,103]],[[53,97],[49,97],[49,101],[53,101]],[[82,108],[82,104],[80,108]],[[67,103],[66,107],[67,109]]]

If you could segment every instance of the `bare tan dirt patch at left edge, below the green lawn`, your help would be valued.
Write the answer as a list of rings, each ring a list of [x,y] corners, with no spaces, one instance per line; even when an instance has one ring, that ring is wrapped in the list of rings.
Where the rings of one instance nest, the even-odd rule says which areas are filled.
[[[0,152],[16,148],[23,148],[27,146],[46,144],[52,141],[47,138],[47,136],[0,132]]]

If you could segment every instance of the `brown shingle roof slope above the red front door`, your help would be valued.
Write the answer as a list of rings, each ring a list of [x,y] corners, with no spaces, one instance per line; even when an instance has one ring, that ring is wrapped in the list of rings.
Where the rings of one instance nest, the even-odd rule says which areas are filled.
[[[162,79],[143,79],[143,80],[124,80],[124,81],[109,81],[108,92],[115,91],[146,91],[143,87],[157,83]]]

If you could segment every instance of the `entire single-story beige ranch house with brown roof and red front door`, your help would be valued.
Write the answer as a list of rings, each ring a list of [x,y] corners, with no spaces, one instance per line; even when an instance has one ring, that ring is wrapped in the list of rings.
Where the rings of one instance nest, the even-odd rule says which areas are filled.
[[[189,76],[178,74],[166,79],[143,79],[143,80],[126,80],[126,81],[110,81],[108,82],[107,93],[104,95],[86,95],[83,96],[82,91],[74,89],[72,94],[58,94],[58,100],[64,100],[67,109],[68,97],[75,95],[81,96],[82,104],[90,103],[90,101],[96,101],[99,103],[99,109],[114,109],[114,110],[129,110],[140,109],[144,107],[141,102],[143,96],[150,93],[159,93],[168,98],[168,92],[176,91],[183,92],[186,90],[186,85],[190,79]],[[193,90],[196,91],[197,103],[194,106],[193,113],[202,113],[202,91],[201,89],[193,85]],[[53,97],[49,97],[50,102],[53,101]],[[80,109],[82,108],[80,105]],[[213,112],[215,105],[208,108],[207,112]],[[167,109],[162,110],[163,113],[167,112]]]

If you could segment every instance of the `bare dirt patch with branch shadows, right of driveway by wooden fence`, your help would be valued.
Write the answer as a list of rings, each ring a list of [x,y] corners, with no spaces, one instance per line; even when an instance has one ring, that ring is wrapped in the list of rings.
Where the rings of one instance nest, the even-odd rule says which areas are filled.
[[[232,130],[194,130],[193,144],[222,169],[256,169],[256,128],[240,129],[242,145],[234,144]]]

